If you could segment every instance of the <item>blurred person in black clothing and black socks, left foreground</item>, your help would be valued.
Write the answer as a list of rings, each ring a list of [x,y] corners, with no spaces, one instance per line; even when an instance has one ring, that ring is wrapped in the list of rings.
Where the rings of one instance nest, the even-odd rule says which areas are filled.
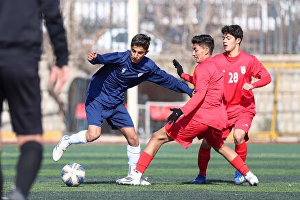
[[[42,53],[42,18],[45,19],[56,56],[49,84],[55,84],[57,95],[68,78],[68,47],[59,6],[59,0],[0,1],[0,124],[2,104],[6,99],[21,151],[16,166],[16,183],[9,199],[27,199],[42,162],[38,75],[38,61]],[[0,195],[2,187],[0,164]]]

